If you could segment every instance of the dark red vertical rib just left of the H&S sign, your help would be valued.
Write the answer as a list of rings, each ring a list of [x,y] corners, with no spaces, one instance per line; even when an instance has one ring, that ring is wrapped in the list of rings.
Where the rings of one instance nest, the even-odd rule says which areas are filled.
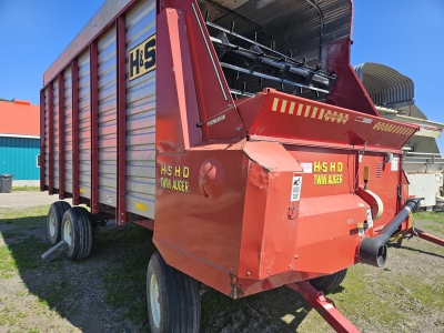
[[[118,37],[118,212],[115,222],[125,224],[127,219],[127,79],[125,79],[125,22],[117,19]]]

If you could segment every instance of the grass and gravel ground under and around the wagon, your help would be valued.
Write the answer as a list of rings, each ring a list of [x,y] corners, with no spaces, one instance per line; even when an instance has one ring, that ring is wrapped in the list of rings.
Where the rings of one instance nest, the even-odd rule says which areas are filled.
[[[57,196],[0,194],[0,332],[149,332],[145,270],[152,233],[104,226],[81,262],[40,255]],[[444,214],[416,225],[444,238]],[[364,332],[444,332],[444,248],[418,239],[390,246],[385,269],[355,265],[327,296]],[[202,332],[333,332],[295,292],[280,287],[233,301],[202,296]]]

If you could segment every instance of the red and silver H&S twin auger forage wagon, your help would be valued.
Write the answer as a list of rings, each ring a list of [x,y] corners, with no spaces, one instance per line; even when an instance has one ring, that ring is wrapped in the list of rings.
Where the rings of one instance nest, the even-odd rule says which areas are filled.
[[[200,285],[322,293],[410,229],[401,148],[350,65],[350,0],[108,0],[43,74],[48,235],[90,254],[103,220],[153,230],[153,332],[198,332]],[[90,212],[79,204],[85,204]],[[310,281],[309,284],[306,281]],[[313,286],[312,286],[313,285]]]

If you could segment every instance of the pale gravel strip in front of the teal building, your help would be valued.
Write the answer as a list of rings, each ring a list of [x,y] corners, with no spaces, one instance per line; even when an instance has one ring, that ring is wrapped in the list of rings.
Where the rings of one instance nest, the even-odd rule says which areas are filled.
[[[29,208],[36,205],[51,204],[59,201],[59,195],[49,195],[48,192],[23,191],[0,193],[0,209],[4,208]],[[72,205],[72,200],[67,199]]]

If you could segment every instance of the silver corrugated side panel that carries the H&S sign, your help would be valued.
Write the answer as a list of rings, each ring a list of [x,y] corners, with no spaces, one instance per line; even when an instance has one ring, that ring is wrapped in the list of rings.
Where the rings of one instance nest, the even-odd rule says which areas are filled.
[[[141,0],[125,16],[130,50],[155,33],[155,1]],[[125,68],[128,71],[128,67]],[[128,75],[129,77],[129,75]],[[155,70],[127,81],[127,211],[154,218]]]

